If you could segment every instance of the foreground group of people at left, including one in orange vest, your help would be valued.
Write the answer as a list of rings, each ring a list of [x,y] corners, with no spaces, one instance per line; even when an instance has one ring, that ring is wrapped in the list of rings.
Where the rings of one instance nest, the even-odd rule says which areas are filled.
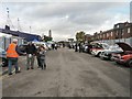
[[[13,65],[15,68],[15,74],[21,73],[18,66],[20,54],[26,55],[26,70],[34,69],[35,56],[37,59],[37,68],[46,69],[45,52],[46,50],[43,45],[38,45],[38,47],[36,47],[32,42],[29,42],[28,46],[25,47],[25,53],[23,53],[18,47],[18,40],[13,38],[12,43],[7,48],[9,75],[12,75]]]

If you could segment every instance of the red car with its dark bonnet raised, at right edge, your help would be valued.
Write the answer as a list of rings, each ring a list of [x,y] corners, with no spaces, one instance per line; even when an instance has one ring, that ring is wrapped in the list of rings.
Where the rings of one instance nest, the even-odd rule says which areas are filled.
[[[123,52],[112,54],[112,59],[118,64],[132,67],[132,46],[122,42],[116,44],[118,44],[123,50]]]

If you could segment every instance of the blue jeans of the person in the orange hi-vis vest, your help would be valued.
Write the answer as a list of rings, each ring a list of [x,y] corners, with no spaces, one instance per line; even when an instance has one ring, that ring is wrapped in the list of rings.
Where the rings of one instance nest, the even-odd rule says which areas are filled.
[[[19,70],[18,58],[12,58],[12,57],[8,58],[9,74],[12,73],[12,65],[14,65],[15,72],[18,72]]]

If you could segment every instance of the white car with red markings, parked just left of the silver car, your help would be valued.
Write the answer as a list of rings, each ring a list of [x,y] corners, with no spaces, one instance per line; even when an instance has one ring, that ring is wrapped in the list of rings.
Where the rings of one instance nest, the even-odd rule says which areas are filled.
[[[96,43],[92,45],[91,54],[94,56],[100,56],[101,52],[105,50],[109,50],[109,45],[107,43]]]

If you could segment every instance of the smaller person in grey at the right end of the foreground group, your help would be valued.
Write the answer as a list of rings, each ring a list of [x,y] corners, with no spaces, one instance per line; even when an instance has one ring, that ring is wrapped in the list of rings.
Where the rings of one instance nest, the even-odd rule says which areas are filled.
[[[46,69],[45,52],[46,52],[45,47],[41,45],[37,57],[38,57],[38,65],[42,69]]]

